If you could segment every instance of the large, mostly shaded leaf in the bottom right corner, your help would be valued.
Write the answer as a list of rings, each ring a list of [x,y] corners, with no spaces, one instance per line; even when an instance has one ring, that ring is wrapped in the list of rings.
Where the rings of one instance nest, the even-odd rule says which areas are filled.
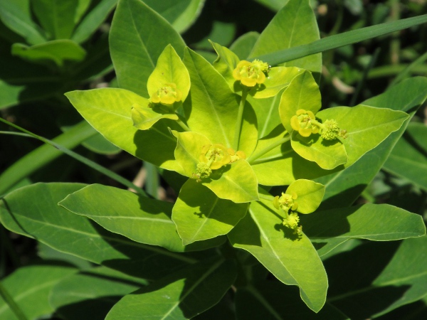
[[[325,262],[331,275],[328,302],[351,319],[372,319],[426,297],[427,237],[368,242]],[[339,265],[337,270],[334,265]],[[347,277],[337,271],[347,270]]]

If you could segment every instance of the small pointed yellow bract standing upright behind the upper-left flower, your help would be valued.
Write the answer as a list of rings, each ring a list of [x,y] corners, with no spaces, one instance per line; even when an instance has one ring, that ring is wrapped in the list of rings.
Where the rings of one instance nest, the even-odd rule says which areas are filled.
[[[190,75],[175,49],[169,44],[159,56],[156,68],[147,80],[149,97],[152,97],[161,87],[171,83],[174,83],[176,90],[181,92],[180,101],[186,100],[190,90]]]

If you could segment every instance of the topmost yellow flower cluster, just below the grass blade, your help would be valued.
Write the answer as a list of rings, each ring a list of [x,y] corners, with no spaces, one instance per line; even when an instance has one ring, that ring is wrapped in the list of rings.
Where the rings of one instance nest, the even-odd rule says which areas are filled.
[[[252,63],[241,60],[236,69],[233,70],[233,78],[241,80],[243,85],[253,87],[257,83],[265,81],[265,71],[268,71],[268,64],[261,60],[253,60]]]

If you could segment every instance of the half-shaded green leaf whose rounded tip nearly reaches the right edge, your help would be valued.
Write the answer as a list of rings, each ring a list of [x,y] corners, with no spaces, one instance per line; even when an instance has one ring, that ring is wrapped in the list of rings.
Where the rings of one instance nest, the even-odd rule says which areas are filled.
[[[426,234],[420,215],[386,204],[317,211],[300,221],[307,237],[317,242],[319,255],[351,238],[391,241]]]

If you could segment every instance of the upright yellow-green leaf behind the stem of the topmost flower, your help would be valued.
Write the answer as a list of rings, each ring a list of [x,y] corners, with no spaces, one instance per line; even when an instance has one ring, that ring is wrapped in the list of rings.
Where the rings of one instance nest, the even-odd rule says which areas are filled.
[[[204,134],[214,144],[231,147],[234,139],[240,97],[231,92],[226,80],[201,55],[186,50],[184,63],[191,78],[191,95],[184,102],[191,131]],[[246,155],[255,149],[258,137],[255,113],[246,104],[239,150]]]

